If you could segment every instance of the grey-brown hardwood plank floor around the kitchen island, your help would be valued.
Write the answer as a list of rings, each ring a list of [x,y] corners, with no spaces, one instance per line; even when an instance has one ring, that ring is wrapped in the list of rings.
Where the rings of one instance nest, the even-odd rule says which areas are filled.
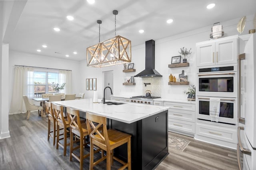
[[[0,139],[0,170],[72,170],[79,169],[79,162],[69,161],[63,156],[63,149],[56,150],[52,138],[47,141],[48,119],[31,112],[29,120],[25,114],[9,115],[10,138]],[[236,170],[236,150],[218,147],[192,137],[169,132],[169,135],[191,141],[183,152],[170,149],[170,154],[156,170]],[[89,148],[86,148],[89,152]],[[100,156],[100,154],[96,154]],[[96,157],[95,157],[96,158]],[[112,169],[120,164],[114,162]],[[84,169],[89,169],[89,158],[84,159]],[[106,161],[94,167],[94,170],[106,169]]]

